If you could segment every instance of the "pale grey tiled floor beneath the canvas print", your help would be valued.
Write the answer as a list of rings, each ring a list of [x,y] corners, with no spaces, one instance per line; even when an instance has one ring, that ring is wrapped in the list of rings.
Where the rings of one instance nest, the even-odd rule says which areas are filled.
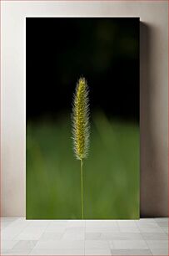
[[[1,255],[168,255],[168,219],[1,218]]]

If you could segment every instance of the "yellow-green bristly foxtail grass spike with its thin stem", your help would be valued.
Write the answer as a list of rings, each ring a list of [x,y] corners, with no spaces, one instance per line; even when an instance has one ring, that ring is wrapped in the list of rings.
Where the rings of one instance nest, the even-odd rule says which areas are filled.
[[[73,149],[77,160],[81,162],[81,200],[82,219],[84,218],[83,207],[83,160],[87,158],[89,147],[89,99],[87,80],[80,78],[77,81],[76,91],[73,97],[72,107],[72,139]]]

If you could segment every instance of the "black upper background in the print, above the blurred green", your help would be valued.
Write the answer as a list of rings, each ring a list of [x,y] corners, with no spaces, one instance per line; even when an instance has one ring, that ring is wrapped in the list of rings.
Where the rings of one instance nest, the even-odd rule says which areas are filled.
[[[139,120],[139,18],[27,18],[27,120],[71,111],[77,79],[92,111]]]

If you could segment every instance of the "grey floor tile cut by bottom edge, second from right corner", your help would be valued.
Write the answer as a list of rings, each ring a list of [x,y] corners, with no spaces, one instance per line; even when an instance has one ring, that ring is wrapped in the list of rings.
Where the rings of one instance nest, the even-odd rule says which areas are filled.
[[[152,255],[152,252],[150,249],[112,249],[111,250],[112,255]]]

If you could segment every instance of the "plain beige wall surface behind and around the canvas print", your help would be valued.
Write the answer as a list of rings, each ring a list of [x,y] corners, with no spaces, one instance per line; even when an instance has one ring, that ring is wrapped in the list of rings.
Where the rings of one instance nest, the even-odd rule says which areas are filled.
[[[32,16],[140,17],[141,216],[167,216],[167,63],[165,1],[3,1],[2,216],[25,215],[24,20]]]

